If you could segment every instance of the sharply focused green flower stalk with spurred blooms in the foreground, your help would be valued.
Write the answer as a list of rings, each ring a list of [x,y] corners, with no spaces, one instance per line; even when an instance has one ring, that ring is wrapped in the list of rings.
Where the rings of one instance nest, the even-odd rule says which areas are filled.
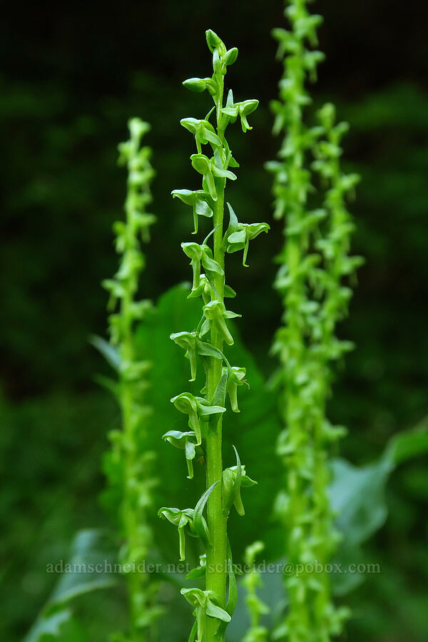
[[[189,297],[201,297],[203,316],[192,332],[176,332],[171,339],[185,350],[190,361],[190,381],[197,373],[198,358],[205,370],[203,397],[183,392],[171,401],[183,414],[188,415],[189,431],[169,431],[166,441],[183,448],[188,462],[188,477],[193,477],[193,460],[205,462],[206,490],[195,509],[163,507],[160,516],[178,527],[180,557],[183,559],[184,534],[197,536],[205,548],[204,564],[196,574],[205,576],[205,589],[182,589],[183,596],[195,607],[195,624],[190,641],[198,642],[224,639],[225,628],[236,605],[236,581],[233,560],[227,535],[230,508],[235,505],[238,514],[244,514],[240,489],[255,484],[245,474],[235,449],[236,466],[223,470],[222,424],[228,395],[233,412],[239,412],[237,389],[245,384],[245,368],[232,367],[223,354],[223,344],[233,345],[228,319],[238,317],[226,310],[225,297],[235,292],[225,284],[225,254],[243,250],[243,264],[251,239],[266,232],[266,223],[240,223],[228,203],[229,225],[223,231],[226,180],[235,180],[230,168],[238,167],[225,138],[229,123],[240,118],[243,132],[250,129],[248,115],[255,111],[258,101],[236,103],[232,90],[224,101],[225,73],[238,56],[238,49],[227,50],[223,41],[213,31],[206,32],[208,48],[213,54],[213,76],[190,78],[183,85],[191,91],[208,91],[214,107],[202,120],[183,118],[181,124],[195,136],[196,153],[190,156],[193,168],[203,176],[201,190],[174,190],[173,197],[180,198],[193,209],[194,234],[198,232],[198,216],[212,218],[213,229],[203,243],[182,243],[185,255],[193,269],[193,285]],[[215,112],[215,125],[210,116]],[[202,146],[209,145],[211,153],[205,156]],[[213,248],[208,240],[213,238]],[[203,272],[202,272],[203,270]],[[206,337],[208,335],[209,338]],[[207,517],[203,511],[207,505]],[[192,577],[195,574],[191,574]],[[228,585],[228,598],[226,588]]]

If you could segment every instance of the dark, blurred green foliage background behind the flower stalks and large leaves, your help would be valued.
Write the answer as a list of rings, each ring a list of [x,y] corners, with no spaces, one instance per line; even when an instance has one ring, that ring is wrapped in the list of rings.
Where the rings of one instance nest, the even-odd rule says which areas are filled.
[[[362,175],[352,204],[354,250],[367,259],[350,319],[340,329],[357,350],[340,372],[330,415],[349,428],[342,454],[367,464],[394,432],[428,412],[428,9],[416,0],[405,9],[386,0],[318,0],[314,10],[325,16],[320,48],[327,54],[313,87],[315,107],[335,101],[338,116],[350,121],[345,164]],[[242,220],[270,220],[270,177],[263,163],[279,145],[270,136],[268,103],[280,77],[270,29],[283,24],[280,0],[124,0],[113,6],[47,1],[25,11],[9,6],[4,16],[2,639],[18,641],[34,621],[54,584],[46,564],[66,556],[75,531],[109,524],[97,498],[106,433],[117,424],[118,410],[93,383],[103,364],[88,335],[106,331],[106,295],[99,284],[116,269],[111,225],[125,195],[116,146],[126,138],[126,121],[141,116],[153,126],[148,142],[158,172],[158,225],[147,248],[142,290],[157,299],[189,277],[180,250],[180,241],[190,240],[188,212],[169,194],[195,187],[191,137],[178,121],[204,116],[209,99],[180,83],[208,73],[208,27],[240,50],[228,75],[235,96],[260,99],[253,131],[235,131],[231,139],[242,167],[230,200]],[[270,288],[270,257],[280,245],[281,226],[274,224],[252,246],[248,270],[230,258],[228,282],[239,292],[233,310],[245,317],[243,342],[265,376],[275,366],[267,351],[280,302]],[[349,628],[353,641],[424,640],[426,464],[413,459],[389,482],[389,518],[365,549],[382,574],[348,598],[357,615]],[[120,600],[106,608],[103,599],[94,597],[85,616],[93,641],[103,639],[97,612],[109,614],[106,628],[121,618]]]

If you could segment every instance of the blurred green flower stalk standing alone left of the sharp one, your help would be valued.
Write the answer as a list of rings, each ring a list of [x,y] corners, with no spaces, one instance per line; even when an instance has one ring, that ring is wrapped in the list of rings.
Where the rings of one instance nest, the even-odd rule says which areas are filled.
[[[119,486],[119,523],[124,539],[121,549],[123,565],[138,566],[153,546],[148,514],[153,510],[153,475],[155,454],[148,449],[148,417],[152,409],[146,399],[151,362],[136,354],[134,327],[151,310],[151,302],[138,300],[138,280],[145,265],[141,240],[149,240],[149,228],[155,222],[147,212],[151,203],[150,183],[153,168],[151,149],[141,146],[141,138],[149,131],[148,123],[132,118],[128,123],[130,138],[119,146],[119,163],[128,168],[126,219],[114,225],[116,250],[121,256],[118,272],[103,286],[110,292],[108,308],[111,346],[98,340],[98,347],[118,370],[115,387],[121,407],[122,430],[113,431],[111,452],[106,459],[110,486]],[[117,506],[116,510],[117,510]],[[131,631],[128,642],[151,639],[151,627],[161,613],[156,606],[157,587],[150,576],[128,573]]]

